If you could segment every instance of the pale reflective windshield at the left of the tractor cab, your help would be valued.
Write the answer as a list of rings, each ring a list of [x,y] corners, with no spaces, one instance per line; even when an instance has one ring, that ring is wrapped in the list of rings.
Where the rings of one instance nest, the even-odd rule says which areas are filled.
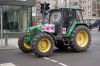
[[[50,17],[49,17],[49,22],[50,23],[55,23],[55,22],[60,22],[61,20],[61,12],[53,12],[50,13]]]

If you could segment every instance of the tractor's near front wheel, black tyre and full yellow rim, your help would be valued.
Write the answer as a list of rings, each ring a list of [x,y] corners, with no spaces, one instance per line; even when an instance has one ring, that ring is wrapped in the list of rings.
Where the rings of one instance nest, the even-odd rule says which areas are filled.
[[[38,57],[47,57],[52,54],[54,40],[47,33],[41,33],[34,37],[32,50]]]

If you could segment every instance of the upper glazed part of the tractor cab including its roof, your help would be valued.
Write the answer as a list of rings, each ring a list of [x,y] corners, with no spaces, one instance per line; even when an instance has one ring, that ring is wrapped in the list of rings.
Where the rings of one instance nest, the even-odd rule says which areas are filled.
[[[49,23],[59,23],[61,25],[70,25],[70,21],[73,20],[82,21],[82,10],[81,9],[69,9],[69,8],[60,8],[60,9],[51,9],[49,12]]]

